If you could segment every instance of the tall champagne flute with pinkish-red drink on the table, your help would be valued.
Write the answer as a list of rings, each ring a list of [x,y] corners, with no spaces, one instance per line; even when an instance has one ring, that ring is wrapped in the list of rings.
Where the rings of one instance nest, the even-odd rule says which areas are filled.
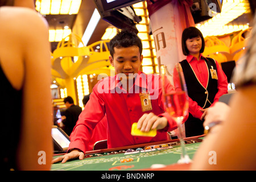
[[[165,85],[168,81],[172,82],[174,89],[167,89],[167,86]],[[166,110],[177,123],[177,137],[179,138],[181,145],[181,158],[177,163],[190,163],[191,159],[189,159],[187,151],[185,150],[183,139],[184,132],[182,127],[182,122],[188,115],[188,93],[180,64],[175,65],[173,76],[168,71],[167,66],[163,66],[162,82]]]

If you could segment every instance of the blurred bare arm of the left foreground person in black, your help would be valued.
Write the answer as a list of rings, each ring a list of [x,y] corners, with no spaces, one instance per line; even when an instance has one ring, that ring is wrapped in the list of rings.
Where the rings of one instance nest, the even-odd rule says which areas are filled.
[[[16,44],[24,65],[22,129],[18,149],[20,170],[49,170],[52,159],[51,60],[46,22],[29,9],[19,9]],[[27,23],[29,22],[29,23]],[[42,156],[42,153],[44,152]],[[41,160],[39,159],[42,156]]]

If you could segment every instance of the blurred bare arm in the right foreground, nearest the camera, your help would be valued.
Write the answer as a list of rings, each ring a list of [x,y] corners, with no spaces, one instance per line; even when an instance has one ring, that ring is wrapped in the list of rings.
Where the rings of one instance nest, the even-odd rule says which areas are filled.
[[[196,152],[192,170],[255,170],[255,93],[256,85],[238,90],[230,102],[228,117],[213,127]],[[216,164],[211,164],[214,158],[210,154],[216,154]]]

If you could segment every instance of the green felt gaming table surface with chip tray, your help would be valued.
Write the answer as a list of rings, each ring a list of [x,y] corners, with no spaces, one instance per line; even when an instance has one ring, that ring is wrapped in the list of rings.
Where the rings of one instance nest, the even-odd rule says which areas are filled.
[[[203,135],[197,137],[185,138],[185,148],[189,158],[193,158],[193,155],[200,147]],[[166,145],[168,143],[168,147]],[[144,148],[146,146],[158,146],[160,148],[148,147],[148,150],[136,151],[137,148]],[[162,147],[165,146],[165,147]],[[170,147],[171,146],[171,147]],[[159,146],[158,146],[159,147]],[[120,150],[127,150],[133,148],[134,152],[125,152],[118,154],[102,155],[106,152],[111,153]],[[154,142],[146,144],[137,144],[134,146],[126,146],[119,148],[108,148],[103,150],[88,151],[85,153],[86,157],[83,160],[75,159],[68,161],[64,164],[55,163],[52,164],[52,171],[119,171],[119,170],[188,170],[189,164],[177,165],[177,161],[180,159],[181,147],[179,140],[166,140],[163,142]],[[97,156],[100,155],[100,156]],[[61,155],[55,155],[53,158],[57,158]],[[123,162],[123,159],[129,159],[127,162]],[[153,165],[154,164],[154,165]],[[159,166],[155,164],[162,164],[164,168],[152,168],[153,166]]]

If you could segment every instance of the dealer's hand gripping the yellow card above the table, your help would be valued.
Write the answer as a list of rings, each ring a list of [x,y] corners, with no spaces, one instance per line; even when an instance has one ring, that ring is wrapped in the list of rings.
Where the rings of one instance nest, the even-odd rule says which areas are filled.
[[[137,128],[143,132],[148,132],[150,130],[161,130],[167,126],[167,118],[158,117],[154,113],[143,114],[137,123]]]

